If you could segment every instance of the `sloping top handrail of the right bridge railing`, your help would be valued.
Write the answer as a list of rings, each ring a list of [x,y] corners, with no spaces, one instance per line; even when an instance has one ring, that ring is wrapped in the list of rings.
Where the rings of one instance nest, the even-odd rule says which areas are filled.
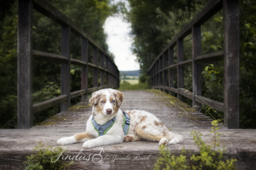
[[[188,36],[192,31],[192,26],[201,26],[204,22],[209,20],[214,14],[218,13],[218,11],[222,8],[222,0],[212,0],[207,3],[207,5],[201,9],[201,11],[195,15],[195,17],[189,22],[187,26],[184,26],[183,30],[177,33],[177,35],[172,38],[172,41],[169,42],[168,45],[161,51],[161,53],[154,59],[156,62],[157,59],[160,58],[162,54],[166,52],[168,48],[172,48],[176,45],[178,39],[183,39]],[[154,65],[154,62],[149,67],[148,71]]]

